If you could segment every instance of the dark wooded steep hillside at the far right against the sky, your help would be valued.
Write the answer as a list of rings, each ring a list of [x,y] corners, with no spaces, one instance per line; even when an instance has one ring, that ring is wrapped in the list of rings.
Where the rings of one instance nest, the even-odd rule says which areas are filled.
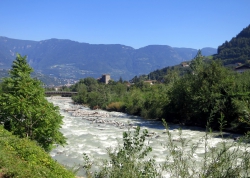
[[[250,25],[244,28],[236,37],[218,47],[218,54],[224,64],[246,63],[250,60]]]

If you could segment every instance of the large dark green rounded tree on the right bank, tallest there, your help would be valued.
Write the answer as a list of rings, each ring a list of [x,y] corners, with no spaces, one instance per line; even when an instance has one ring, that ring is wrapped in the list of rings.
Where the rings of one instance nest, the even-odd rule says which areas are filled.
[[[169,111],[179,122],[199,126],[205,126],[212,115],[211,126],[217,129],[216,118],[222,114],[226,127],[232,127],[239,116],[233,102],[238,99],[235,74],[218,61],[205,63],[202,56],[197,56],[190,67],[192,72],[175,82],[169,92]]]

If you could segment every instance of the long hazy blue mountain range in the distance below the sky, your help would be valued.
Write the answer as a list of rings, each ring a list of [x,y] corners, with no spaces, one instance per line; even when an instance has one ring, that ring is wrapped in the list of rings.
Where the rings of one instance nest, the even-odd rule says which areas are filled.
[[[10,68],[16,53],[27,55],[35,71],[59,78],[79,79],[100,77],[109,73],[117,80],[129,80],[135,75],[191,60],[198,50],[149,45],[134,49],[120,44],[88,44],[71,40],[17,40],[0,37],[0,67]],[[216,53],[203,48],[204,55]]]

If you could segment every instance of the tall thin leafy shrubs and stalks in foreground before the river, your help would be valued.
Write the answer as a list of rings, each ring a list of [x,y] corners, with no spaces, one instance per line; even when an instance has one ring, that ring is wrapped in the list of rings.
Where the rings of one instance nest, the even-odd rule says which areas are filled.
[[[123,144],[107,149],[109,158],[103,160],[102,165],[94,165],[84,154],[87,177],[250,177],[250,148],[244,137],[237,142],[227,138],[212,147],[209,145],[212,134],[206,132],[199,143],[190,145],[190,140],[183,137],[181,129],[176,142],[165,122],[164,126],[167,154],[158,155],[166,158],[163,164],[157,164],[155,158],[148,155],[152,151],[147,141],[148,131],[137,127],[135,131],[123,133]],[[198,157],[196,151],[201,146],[204,150]],[[92,166],[99,167],[99,171],[92,173]]]

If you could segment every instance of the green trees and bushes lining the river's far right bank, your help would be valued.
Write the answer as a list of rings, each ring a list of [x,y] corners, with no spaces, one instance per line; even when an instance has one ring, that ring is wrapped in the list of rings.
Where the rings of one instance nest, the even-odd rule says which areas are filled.
[[[231,132],[248,131],[250,112],[250,72],[242,74],[224,67],[219,60],[206,59],[201,52],[182,75],[168,70],[164,80],[150,84],[138,81],[111,81],[105,85],[93,78],[81,79],[71,86],[78,95],[76,103],[90,108],[126,112],[145,119],[206,127]],[[212,118],[212,120],[211,120]]]

